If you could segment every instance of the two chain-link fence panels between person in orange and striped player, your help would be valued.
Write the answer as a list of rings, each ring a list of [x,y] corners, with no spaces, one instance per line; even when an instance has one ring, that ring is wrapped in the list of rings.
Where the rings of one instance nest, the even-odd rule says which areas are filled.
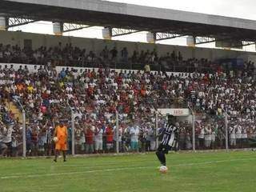
[[[75,154],[153,151],[156,148],[155,133],[154,114],[142,118],[118,113],[98,117],[90,113],[74,120],[74,151]]]

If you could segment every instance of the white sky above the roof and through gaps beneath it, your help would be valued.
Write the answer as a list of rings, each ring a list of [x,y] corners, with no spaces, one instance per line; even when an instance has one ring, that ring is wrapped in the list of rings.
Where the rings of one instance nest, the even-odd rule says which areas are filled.
[[[154,6],[173,10],[186,10],[203,14],[217,14],[234,18],[246,18],[256,20],[255,0],[109,0],[110,2],[130,3],[142,6]],[[35,30],[36,29],[36,30]],[[12,30],[53,34],[50,22],[37,22],[26,26],[15,27]],[[67,36],[78,36],[86,38],[102,38],[102,27],[94,26],[85,30],[66,33]],[[130,34],[113,38],[114,40],[125,40],[133,42],[146,42],[146,32]],[[175,38],[161,41],[162,44],[186,45],[186,38]],[[214,43],[201,46],[214,47]],[[246,46],[245,50],[255,50],[255,46]]]

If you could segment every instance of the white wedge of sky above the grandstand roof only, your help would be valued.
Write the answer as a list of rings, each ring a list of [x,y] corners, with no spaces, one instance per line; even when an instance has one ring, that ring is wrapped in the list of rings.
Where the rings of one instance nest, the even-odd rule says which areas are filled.
[[[109,0],[109,2],[125,2],[142,6],[256,20],[255,0]]]

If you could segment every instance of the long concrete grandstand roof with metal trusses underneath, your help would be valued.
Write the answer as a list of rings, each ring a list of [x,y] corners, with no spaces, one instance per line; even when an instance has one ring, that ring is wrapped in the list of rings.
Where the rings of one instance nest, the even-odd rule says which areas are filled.
[[[66,22],[86,25],[72,26],[68,30],[106,26],[110,30],[110,36],[143,30],[152,33],[154,40],[190,35],[194,38],[195,44],[215,41],[235,42],[227,43],[230,47],[251,45],[256,40],[256,22],[252,20],[117,2],[3,0],[0,2],[0,13],[2,18],[27,19],[18,21],[16,25],[38,20],[59,22],[60,32],[63,32],[62,23]],[[8,22],[6,24],[8,28]]]

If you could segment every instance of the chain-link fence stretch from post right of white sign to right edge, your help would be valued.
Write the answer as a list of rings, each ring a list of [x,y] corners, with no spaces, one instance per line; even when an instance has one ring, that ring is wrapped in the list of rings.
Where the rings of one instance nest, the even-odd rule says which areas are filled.
[[[195,119],[196,149],[244,149],[256,145],[255,123],[251,118],[226,114],[200,114]]]

